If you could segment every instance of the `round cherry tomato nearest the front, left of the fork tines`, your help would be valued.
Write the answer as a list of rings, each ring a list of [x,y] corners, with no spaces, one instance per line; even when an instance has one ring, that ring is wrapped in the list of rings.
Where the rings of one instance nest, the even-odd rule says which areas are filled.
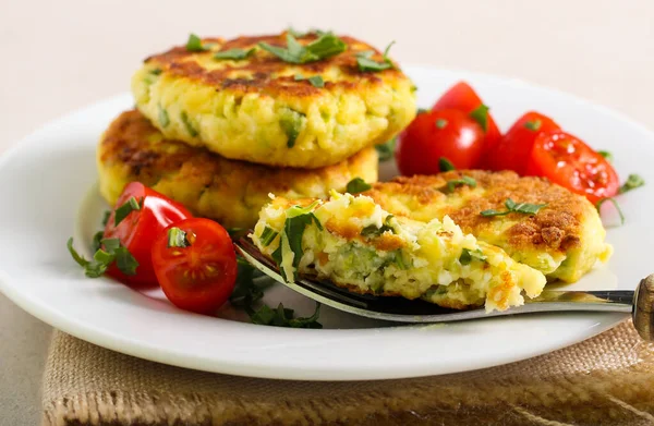
[[[169,246],[171,230],[183,231],[185,244]],[[232,241],[225,228],[209,219],[183,220],[161,232],[153,244],[153,264],[164,293],[182,309],[211,314],[234,289],[238,267]]]

